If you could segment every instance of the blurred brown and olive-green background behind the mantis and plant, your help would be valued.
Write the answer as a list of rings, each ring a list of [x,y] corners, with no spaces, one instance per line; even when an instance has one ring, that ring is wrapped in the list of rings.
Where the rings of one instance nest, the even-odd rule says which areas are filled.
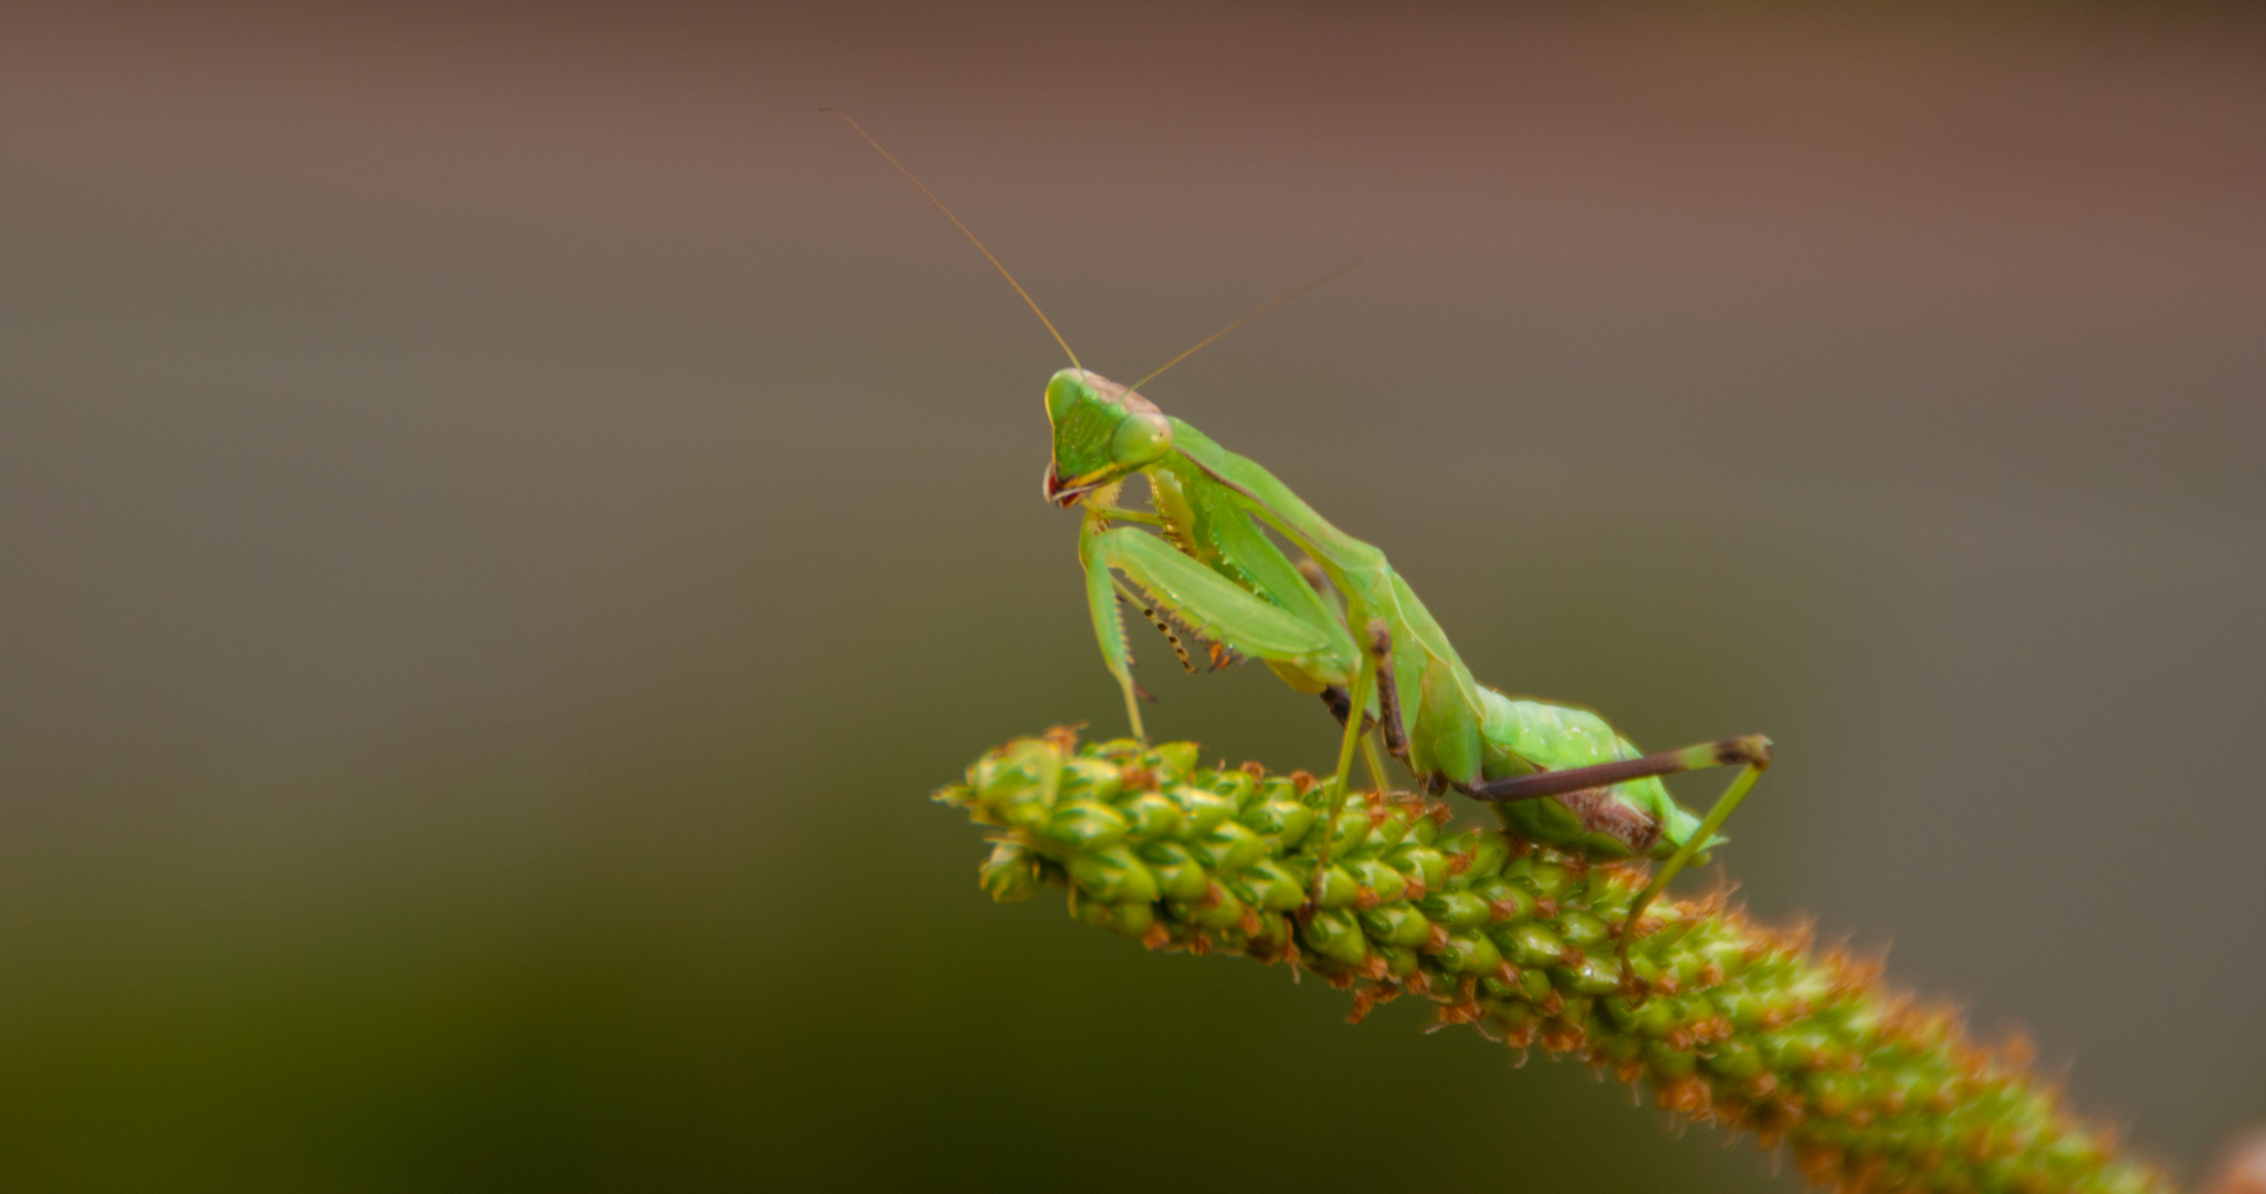
[[[827,104],[1122,381],[1362,256],[1147,392],[1482,680],[1770,732],[1758,913],[2173,1167],[2266,1115],[2266,25],[23,5],[0,1185],[1797,1187],[977,890],[927,793],[1122,727],[1063,360]]]

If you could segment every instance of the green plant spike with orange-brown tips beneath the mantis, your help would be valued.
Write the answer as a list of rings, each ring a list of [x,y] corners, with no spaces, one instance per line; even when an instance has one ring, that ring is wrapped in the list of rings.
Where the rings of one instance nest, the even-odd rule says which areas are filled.
[[[1643,863],[1584,865],[1448,807],[1196,766],[1192,743],[1017,739],[936,800],[993,829],[983,888],[1067,888],[1072,913],[1149,949],[1242,954],[1353,992],[1353,1020],[1416,995],[1441,1024],[1577,1056],[1672,1115],[1788,1146],[1849,1192],[2169,1192],[2114,1133],[2071,1115],[2019,1044],[1969,1042],[1879,965],[1813,952],[1722,895],[1661,899],[1622,972],[1616,931]],[[1328,859],[1317,890],[1317,859]]]

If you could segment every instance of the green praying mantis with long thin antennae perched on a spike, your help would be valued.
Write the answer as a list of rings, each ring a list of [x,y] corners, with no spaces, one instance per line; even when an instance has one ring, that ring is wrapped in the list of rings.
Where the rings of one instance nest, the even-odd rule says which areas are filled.
[[[1643,754],[1591,709],[1477,684],[1382,551],[1330,526],[1258,462],[1221,449],[1138,392],[1196,349],[1335,272],[1244,315],[1147,378],[1119,385],[1081,367],[1047,313],[968,224],[857,120],[836,116],[968,236],[1070,356],[1070,367],[1047,381],[1054,458],[1045,496],[1081,512],[1085,598],[1133,736],[1147,741],[1140,716],[1147,693],[1133,680],[1119,600],[1165,632],[1187,671],[1196,671],[1190,646],[1215,668],[1260,659],[1292,689],[1321,696],[1344,723],[1323,854],[1314,868],[1317,899],[1355,750],[1364,752],[1378,788],[1387,788],[1378,759],[1382,739],[1385,752],[1430,793],[1455,788],[1493,802],[1505,827],[1532,843],[1588,859],[1663,859],[1620,929],[1622,976],[1634,983],[1627,949],[1645,906],[1722,841],[1715,829],[1770,768],[1770,739],[1747,734]],[[1147,483],[1151,510],[1119,505],[1133,476]],[[1269,530],[1303,560],[1292,562]],[[1668,795],[1661,777],[1711,766],[1740,770],[1702,820]]]

